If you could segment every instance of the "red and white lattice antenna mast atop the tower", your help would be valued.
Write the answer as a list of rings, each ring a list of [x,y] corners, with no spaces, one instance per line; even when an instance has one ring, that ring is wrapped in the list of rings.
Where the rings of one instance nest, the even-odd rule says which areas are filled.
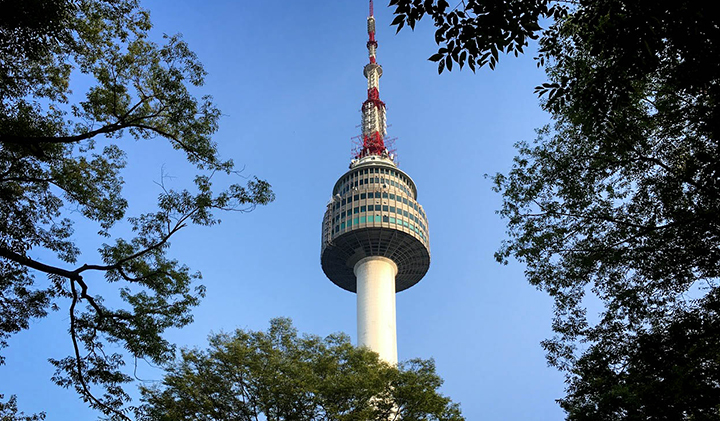
[[[387,135],[387,120],[385,117],[385,103],[380,100],[379,82],[382,76],[382,67],[377,64],[375,40],[375,16],[373,15],[373,1],[370,0],[370,15],[368,22],[368,57],[370,62],[365,65],[363,73],[368,80],[368,97],[362,105],[362,149],[357,158],[367,155],[387,154],[385,136]]]

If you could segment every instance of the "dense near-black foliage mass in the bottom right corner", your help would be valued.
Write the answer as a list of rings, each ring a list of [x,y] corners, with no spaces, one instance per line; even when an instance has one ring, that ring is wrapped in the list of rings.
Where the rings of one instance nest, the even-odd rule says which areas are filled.
[[[572,370],[560,401],[570,419],[716,420],[720,417],[720,303],[697,307],[619,346],[596,346]],[[619,369],[622,367],[622,369]]]

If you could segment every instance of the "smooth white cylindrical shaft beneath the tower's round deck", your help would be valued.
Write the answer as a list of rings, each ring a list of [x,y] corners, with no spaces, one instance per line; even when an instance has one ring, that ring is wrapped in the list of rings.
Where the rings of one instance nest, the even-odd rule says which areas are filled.
[[[358,346],[368,347],[397,364],[395,275],[397,265],[386,257],[365,257],[355,264],[357,278]]]

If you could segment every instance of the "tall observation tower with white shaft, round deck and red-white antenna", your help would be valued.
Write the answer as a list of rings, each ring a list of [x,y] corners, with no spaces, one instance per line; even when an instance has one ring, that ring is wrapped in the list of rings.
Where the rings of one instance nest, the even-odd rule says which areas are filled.
[[[350,170],[335,183],[322,223],[323,271],[339,287],[357,293],[358,345],[397,364],[395,293],[415,285],[430,267],[427,217],[417,188],[388,151],[382,67],[375,52],[375,17],[367,18],[370,62],[362,105],[362,144]]]

